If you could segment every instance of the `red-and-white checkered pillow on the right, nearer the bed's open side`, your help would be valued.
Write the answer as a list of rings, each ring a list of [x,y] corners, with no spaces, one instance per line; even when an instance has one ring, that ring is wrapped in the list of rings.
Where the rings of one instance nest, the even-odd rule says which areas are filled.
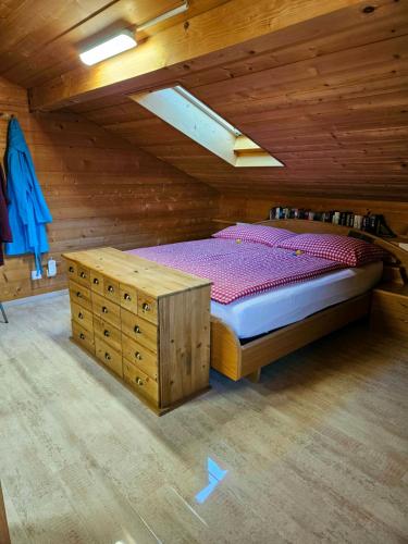
[[[385,255],[375,244],[337,234],[298,234],[279,243],[277,247],[300,249],[305,254],[343,262],[348,267],[362,267],[369,262],[381,261]]]

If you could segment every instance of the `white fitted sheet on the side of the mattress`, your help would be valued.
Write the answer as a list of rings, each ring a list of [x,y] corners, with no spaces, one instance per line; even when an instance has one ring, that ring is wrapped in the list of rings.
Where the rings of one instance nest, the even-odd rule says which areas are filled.
[[[239,338],[250,338],[366,293],[381,280],[382,271],[382,262],[372,262],[251,295],[228,305],[211,300],[211,313],[227,323]]]

